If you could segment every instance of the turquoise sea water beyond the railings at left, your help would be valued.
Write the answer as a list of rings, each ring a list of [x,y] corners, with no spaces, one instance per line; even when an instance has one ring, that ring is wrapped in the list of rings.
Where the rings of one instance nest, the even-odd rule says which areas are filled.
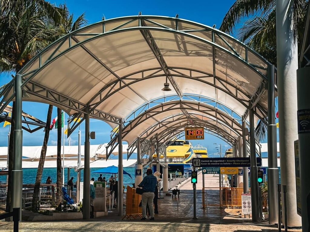
[[[100,168],[91,168],[91,172],[98,170],[98,169],[100,169]],[[66,169],[66,168],[64,169],[64,180],[65,180],[65,182],[68,182],[67,170],[68,169]],[[131,175],[132,179],[128,175],[124,175],[123,176],[123,183],[125,185],[134,183],[135,182],[135,168],[134,167],[126,167],[126,168],[124,168],[124,171],[129,173]],[[34,182],[36,180],[36,175],[37,175],[37,169],[23,169],[23,184],[34,184]],[[51,177],[52,183],[56,183],[56,180],[57,180],[56,175],[57,175],[57,169],[56,168],[45,168],[45,169],[43,169],[41,183],[45,184],[48,176]],[[99,175],[100,175],[100,173],[91,173],[91,178],[94,177],[95,180],[97,180]],[[106,180],[108,180],[109,177],[111,177],[111,174],[102,173],[102,176],[105,177]],[[78,177],[78,173],[75,172],[74,169],[70,169],[70,177],[73,177],[73,183],[75,183],[77,180],[77,177]],[[0,181],[6,182],[7,181],[6,178],[7,178],[6,176],[0,176]],[[83,170],[81,172],[81,181],[83,181]]]

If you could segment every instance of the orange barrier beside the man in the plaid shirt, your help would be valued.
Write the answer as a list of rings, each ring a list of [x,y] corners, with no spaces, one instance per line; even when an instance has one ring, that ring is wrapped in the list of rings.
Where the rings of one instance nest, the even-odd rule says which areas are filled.
[[[136,189],[127,185],[126,193],[126,215],[122,218],[136,219],[137,217],[142,218],[142,208],[139,207],[141,201],[141,195],[136,194]]]

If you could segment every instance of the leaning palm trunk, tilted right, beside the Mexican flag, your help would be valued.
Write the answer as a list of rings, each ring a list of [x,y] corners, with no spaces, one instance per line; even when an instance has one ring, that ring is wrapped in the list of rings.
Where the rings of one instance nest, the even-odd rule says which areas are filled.
[[[44,166],[44,162],[45,162],[45,155],[46,155],[46,151],[47,151],[47,142],[48,142],[48,138],[50,136],[50,125],[51,125],[52,112],[53,112],[53,106],[49,105],[48,111],[47,111],[43,146],[42,146],[41,156],[40,156],[38,170],[37,170],[36,182],[34,184],[34,189],[33,189],[33,197],[32,197],[32,210],[33,211],[37,211],[38,204],[40,204],[40,203],[38,203],[38,196],[39,196],[39,190],[40,190],[40,183],[42,180],[42,173],[43,173],[43,166]]]

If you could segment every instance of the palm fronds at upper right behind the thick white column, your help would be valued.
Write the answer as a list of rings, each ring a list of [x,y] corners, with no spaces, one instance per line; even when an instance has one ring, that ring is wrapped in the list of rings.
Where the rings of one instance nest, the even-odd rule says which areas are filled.
[[[292,28],[300,44],[309,0],[292,0]],[[237,0],[224,16],[220,30],[230,33],[277,66],[276,0]],[[299,46],[300,47],[300,46]],[[266,138],[267,126],[259,121],[255,138]]]

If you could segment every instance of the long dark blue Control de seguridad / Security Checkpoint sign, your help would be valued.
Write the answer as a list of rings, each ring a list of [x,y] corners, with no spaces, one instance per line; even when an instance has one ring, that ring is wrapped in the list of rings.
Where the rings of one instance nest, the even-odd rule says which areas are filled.
[[[262,166],[262,159],[256,158],[257,166]],[[193,167],[250,167],[250,157],[238,158],[195,158],[193,159]]]

